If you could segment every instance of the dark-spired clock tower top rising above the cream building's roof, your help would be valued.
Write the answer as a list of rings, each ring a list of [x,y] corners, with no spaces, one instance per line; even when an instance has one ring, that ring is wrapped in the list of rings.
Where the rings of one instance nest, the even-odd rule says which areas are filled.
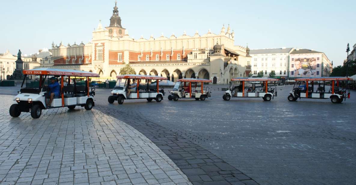
[[[114,10],[112,10],[112,16],[110,18],[110,26],[106,27],[109,30],[110,37],[124,37],[125,28],[121,26],[121,18],[119,16],[119,10],[116,6],[117,1],[115,1]]]

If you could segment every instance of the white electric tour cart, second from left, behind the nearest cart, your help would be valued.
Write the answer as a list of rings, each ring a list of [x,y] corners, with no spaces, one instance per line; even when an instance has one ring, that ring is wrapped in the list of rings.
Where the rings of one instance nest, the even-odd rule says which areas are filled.
[[[131,86],[130,79],[135,79],[137,85],[130,89],[131,92],[130,95],[128,95],[128,90]],[[156,82],[152,80],[156,80]],[[119,104],[123,104],[124,100],[129,99],[147,99],[147,101],[154,99],[157,102],[161,102],[163,100],[164,90],[163,88],[159,89],[159,80],[167,80],[167,78],[136,74],[119,75],[117,76],[114,90],[111,91],[111,96],[108,97],[108,102],[112,104],[117,100]]]

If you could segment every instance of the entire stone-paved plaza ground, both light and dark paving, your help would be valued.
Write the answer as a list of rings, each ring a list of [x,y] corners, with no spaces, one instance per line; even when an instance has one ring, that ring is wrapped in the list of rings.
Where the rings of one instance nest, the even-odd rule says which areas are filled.
[[[341,104],[278,96],[127,100],[9,115],[19,87],[0,88],[2,184],[353,184],[355,91]],[[165,89],[166,90],[166,89]]]

